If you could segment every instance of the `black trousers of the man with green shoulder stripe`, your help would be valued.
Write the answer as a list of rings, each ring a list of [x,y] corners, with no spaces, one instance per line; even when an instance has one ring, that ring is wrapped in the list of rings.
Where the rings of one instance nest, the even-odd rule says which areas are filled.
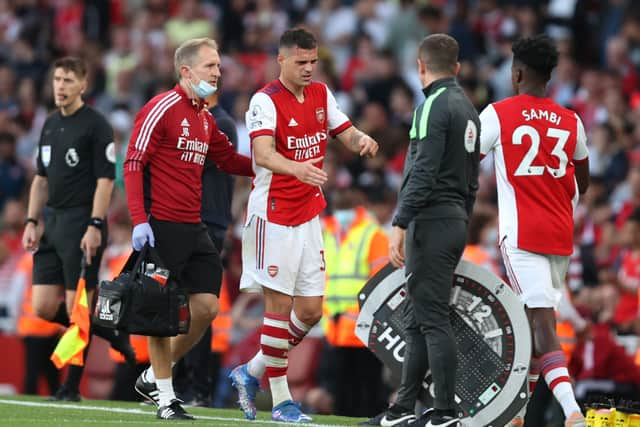
[[[407,229],[406,347],[396,400],[405,408],[413,409],[429,367],[435,408],[454,408],[457,362],[449,299],[466,239],[467,222],[463,219],[413,221]]]

